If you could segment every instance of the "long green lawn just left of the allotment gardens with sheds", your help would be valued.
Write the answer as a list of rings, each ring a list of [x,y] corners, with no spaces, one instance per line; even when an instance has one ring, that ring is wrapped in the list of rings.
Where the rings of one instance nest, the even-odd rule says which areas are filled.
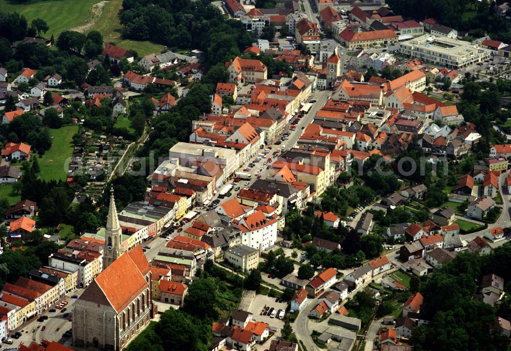
[[[69,169],[68,159],[73,155],[73,135],[78,131],[78,126],[67,126],[60,129],[51,129],[53,137],[52,147],[44,153],[39,161],[43,180],[65,180]]]

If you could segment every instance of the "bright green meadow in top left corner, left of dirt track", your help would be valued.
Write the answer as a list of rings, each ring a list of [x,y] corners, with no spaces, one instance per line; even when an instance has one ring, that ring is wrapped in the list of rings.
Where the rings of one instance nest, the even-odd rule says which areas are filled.
[[[30,22],[34,18],[42,18],[50,27],[44,37],[57,36],[62,31],[78,26],[92,17],[90,9],[99,0],[29,0],[19,2],[16,0],[2,0],[2,12],[18,12],[25,15]],[[56,39],[56,38],[55,38]]]

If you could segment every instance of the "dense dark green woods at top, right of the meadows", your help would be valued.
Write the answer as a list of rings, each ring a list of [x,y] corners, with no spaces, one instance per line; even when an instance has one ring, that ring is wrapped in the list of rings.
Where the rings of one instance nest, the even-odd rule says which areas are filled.
[[[120,19],[124,37],[173,50],[199,49],[212,66],[240,55],[254,41],[241,21],[224,19],[206,0],[124,0]]]

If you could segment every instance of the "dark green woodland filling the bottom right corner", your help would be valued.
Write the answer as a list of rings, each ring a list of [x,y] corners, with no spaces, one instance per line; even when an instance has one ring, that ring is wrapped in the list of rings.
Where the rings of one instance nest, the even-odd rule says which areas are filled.
[[[437,272],[423,278],[420,292],[424,296],[421,313],[433,321],[429,327],[420,325],[412,331],[413,349],[493,351],[508,349],[507,338],[498,328],[489,332],[489,325],[496,327],[496,317],[511,319],[511,245],[497,247],[491,255],[458,253]],[[481,277],[494,273],[505,282],[507,293],[502,303],[491,305],[473,299]]]

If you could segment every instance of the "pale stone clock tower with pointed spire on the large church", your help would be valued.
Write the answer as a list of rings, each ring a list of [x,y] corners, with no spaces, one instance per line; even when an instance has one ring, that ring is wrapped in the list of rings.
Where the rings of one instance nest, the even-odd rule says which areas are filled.
[[[105,247],[103,248],[103,269],[108,267],[124,253],[121,224],[115,208],[113,189],[110,190],[110,206],[105,226]]]

